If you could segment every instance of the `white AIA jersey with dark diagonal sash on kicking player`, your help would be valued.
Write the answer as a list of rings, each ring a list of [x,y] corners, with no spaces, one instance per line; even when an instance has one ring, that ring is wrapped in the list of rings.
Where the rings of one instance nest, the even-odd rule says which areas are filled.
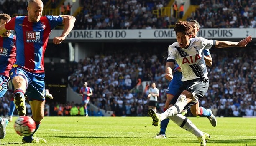
[[[176,61],[182,70],[182,81],[197,78],[207,78],[208,72],[204,60],[204,49],[215,46],[215,40],[207,40],[202,37],[191,38],[187,49],[179,47],[174,42],[168,47],[167,62]]]

